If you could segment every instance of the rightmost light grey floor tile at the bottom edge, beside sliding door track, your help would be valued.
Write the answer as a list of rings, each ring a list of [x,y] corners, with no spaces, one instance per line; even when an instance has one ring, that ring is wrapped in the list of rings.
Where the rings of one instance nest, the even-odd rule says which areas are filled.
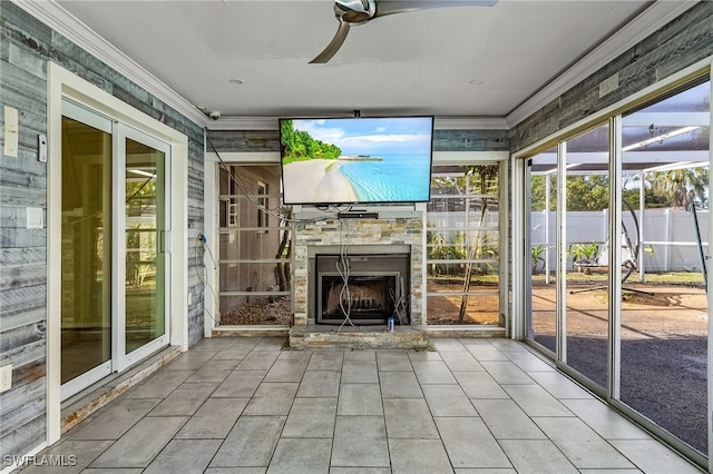
[[[655,440],[612,440],[611,443],[647,474],[701,472]]]

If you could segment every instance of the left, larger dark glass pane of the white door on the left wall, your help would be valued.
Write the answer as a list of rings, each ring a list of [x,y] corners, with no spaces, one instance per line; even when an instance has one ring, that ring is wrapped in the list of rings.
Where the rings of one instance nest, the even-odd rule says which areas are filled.
[[[111,358],[111,135],[62,117],[61,383]]]

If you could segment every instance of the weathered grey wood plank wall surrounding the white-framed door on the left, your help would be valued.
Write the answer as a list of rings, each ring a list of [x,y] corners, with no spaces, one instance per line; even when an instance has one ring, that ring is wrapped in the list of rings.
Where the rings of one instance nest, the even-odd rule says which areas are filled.
[[[37,159],[38,134],[47,134],[47,61],[188,137],[189,343],[203,337],[203,285],[194,258],[204,221],[202,127],[14,3],[2,1],[0,111],[6,105],[18,109],[20,142],[17,158],[0,157],[0,365],[13,366],[12,389],[0,394],[0,458],[26,454],[45,441],[47,229],[27,229],[26,208],[47,209],[47,166]]]

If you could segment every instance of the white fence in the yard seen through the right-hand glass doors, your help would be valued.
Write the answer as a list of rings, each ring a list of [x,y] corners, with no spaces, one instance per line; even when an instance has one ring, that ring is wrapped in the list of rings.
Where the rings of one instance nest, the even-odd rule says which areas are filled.
[[[709,248],[709,211],[697,210],[696,216],[703,243],[703,251]],[[548,259],[549,268],[556,265],[555,241],[557,236],[556,213],[533,213],[531,246],[547,246],[548,251],[541,257]],[[643,258],[639,258],[639,270],[643,271],[701,271],[702,264],[699,240],[692,213],[678,209],[647,209],[642,216],[636,211],[638,226],[629,213],[623,216],[623,225],[629,239],[643,241]],[[573,244],[592,244],[604,249],[607,239],[608,211],[567,213],[567,247]],[[637,236],[637,227],[642,235]],[[572,258],[569,258],[572,268]]]

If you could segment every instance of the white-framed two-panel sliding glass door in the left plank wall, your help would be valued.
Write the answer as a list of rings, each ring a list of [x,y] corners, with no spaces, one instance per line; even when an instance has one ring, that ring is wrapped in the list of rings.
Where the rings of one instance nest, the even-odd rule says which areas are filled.
[[[62,105],[62,398],[168,343],[169,147]]]

